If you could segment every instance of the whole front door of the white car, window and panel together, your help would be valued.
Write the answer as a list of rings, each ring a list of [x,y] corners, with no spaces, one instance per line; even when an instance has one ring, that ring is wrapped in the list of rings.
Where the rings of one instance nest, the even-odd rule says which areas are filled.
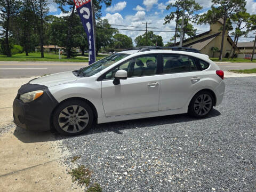
[[[127,71],[127,79],[114,85],[119,69]],[[102,102],[106,116],[158,111],[159,77],[157,54],[140,55],[108,71],[102,80]]]

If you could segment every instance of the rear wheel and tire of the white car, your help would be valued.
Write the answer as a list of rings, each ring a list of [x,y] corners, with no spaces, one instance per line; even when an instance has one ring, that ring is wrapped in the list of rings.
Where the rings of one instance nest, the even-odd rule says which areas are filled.
[[[188,106],[188,114],[196,118],[204,118],[209,115],[214,105],[213,95],[209,91],[199,91],[191,99]]]

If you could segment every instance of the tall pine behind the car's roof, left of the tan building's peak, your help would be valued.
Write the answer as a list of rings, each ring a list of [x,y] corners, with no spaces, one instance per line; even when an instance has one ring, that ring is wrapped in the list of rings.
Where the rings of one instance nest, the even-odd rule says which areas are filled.
[[[182,40],[184,39],[185,35],[188,35],[189,37],[195,36],[196,29],[193,28],[193,25],[191,25],[190,22],[196,22],[198,19],[198,11],[202,10],[203,7],[200,6],[198,3],[195,2],[195,0],[178,0],[175,1],[175,3],[170,3],[166,6],[166,10],[170,10],[174,7],[175,11],[171,12],[169,15],[166,15],[164,19],[164,25],[167,23],[170,23],[173,19],[175,19],[175,33],[172,37],[171,41],[174,40],[174,44],[176,43],[176,38],[180,37],[178,34],[179,31],[183,31],[183,36],[181,37]],[[181,17],[182,17],[182,10],[184,10],[186,13],[185,19],[184,19],[184,25],[183,29],[181,27]]]

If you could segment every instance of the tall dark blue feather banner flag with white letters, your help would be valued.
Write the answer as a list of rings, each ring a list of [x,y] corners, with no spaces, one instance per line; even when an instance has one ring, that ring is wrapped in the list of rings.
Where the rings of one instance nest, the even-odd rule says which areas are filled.
[[[74,0],[89,43],[89,65],[96,61],[92,0]]]

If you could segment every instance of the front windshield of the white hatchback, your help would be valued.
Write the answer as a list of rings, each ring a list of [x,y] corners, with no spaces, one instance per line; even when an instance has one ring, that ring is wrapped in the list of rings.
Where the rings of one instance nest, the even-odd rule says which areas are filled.
[[[129,54],[124,53],[115,53],[111,54],[106,58],[103,58],[99,61],[94,62],[92,65],[88,67],[81,68],[81,74],[84,77],[90,77],[102,71],[103,69],[107,68],[108,66],[112,65],[113,63],[127,57]]]

